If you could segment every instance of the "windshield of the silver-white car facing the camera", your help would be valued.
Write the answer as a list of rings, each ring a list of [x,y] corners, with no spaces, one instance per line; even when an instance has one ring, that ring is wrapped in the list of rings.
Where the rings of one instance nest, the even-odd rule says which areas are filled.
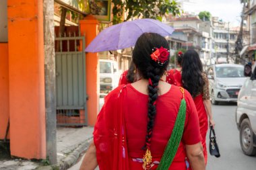
[[[245,77],[243,67],[216,67],[216,77]]]

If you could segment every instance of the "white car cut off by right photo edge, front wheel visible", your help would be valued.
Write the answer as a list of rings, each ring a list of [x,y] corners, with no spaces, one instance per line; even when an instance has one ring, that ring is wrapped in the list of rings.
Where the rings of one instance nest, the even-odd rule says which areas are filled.
[[[236,124],[240,132],[240,144],[245,155],[256,155],[256,69],[253,74],[250,66],[245,67],[247,79],[239,91]],[[248,71],[248,72],[247,72]]]

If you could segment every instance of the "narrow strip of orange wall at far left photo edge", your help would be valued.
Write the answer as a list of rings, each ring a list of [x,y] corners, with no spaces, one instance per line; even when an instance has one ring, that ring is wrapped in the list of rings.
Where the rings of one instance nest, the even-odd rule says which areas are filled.
[[[5,138],[9,118],[8,44],[0,43],[0,139]]]

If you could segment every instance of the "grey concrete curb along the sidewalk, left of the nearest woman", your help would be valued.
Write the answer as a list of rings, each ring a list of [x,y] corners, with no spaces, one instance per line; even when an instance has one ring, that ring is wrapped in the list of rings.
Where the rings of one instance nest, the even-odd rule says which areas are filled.
[[[70,168],[72,165],[74,165],[77,160],[79,159],[80,155],[84,153],[88,149],[88,146],[90,145],[90,142],[92,142],[93,137],[88,138],[81,144],[75,148],[65,159],[62,159],[60,163],[58,163],[57,167],[59,167],[59,170],[65,170]]]

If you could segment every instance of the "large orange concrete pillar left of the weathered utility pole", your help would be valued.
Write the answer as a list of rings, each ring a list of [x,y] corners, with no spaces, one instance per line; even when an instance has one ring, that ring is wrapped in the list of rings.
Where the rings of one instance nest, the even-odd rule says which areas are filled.
[[[46,158],[42,1],[8,0],[11,155]]]

